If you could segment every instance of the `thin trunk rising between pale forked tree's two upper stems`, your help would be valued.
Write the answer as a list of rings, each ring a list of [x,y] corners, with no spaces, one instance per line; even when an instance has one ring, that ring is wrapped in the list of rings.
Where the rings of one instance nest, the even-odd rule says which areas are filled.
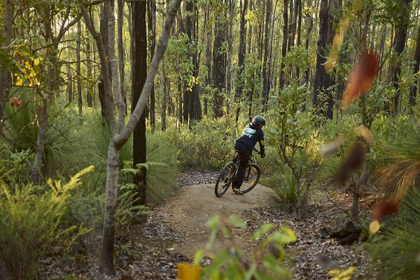
[[[118,63],[120,70],[120,92],[123,102],[125,104],[125,113],[127,113],[127,94],[125,94],[125,57],[124,57],[124,46],[123,46],[123,11],[124,2],[123,0],[117,0],[117,40],[118,40]]]

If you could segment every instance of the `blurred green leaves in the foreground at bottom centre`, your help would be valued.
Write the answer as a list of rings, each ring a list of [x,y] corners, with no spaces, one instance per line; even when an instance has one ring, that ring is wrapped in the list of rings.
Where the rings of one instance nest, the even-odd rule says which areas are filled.
[[[231,216],[229,224],[218,215],[213,216],[207,222],[211,232],[207,248],[210,248],[216,239],[217,232],[232,239],[232,227],[245,228],[244,221]],[[290,272],[281,267],[281,261],[285,256],[284,246],[296,240],[295,233],[286,227],[274,231],[274,224],[263,224],[253,233],[253,240],[260,241],[258,251],[251,260],[245,260],[239,248],[232,246],[211,256],[212,263],[202,268],[200,279],[288,279]],[[269,252],[267,253],[267,248]],[[195,254],[195,265],[199,265],[204,257],[204,250]]]

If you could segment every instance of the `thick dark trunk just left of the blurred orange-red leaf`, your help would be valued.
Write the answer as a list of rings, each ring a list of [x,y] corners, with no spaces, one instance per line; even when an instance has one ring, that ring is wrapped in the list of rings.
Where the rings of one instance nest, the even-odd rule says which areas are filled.
[[[319,116],[325,118],[332,118],[333,114],[333,97],[332,92],[328,89],[332,85],[332,78],[325,71],[325,57],[328,56],[328,44],[331,41],[330,36],[330,0],[321,0],[321,7],[319,9],[319,36],[316,51],[316,73],[314,80],[314,96],[313,104]],[[326,100],[326,104],[321,103],[322,99]]]

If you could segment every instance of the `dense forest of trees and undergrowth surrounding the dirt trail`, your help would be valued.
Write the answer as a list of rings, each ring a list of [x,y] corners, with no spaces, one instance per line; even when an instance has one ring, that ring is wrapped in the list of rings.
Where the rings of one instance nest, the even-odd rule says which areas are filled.
[[[63,236],[112,274],[116,230],[145,221],[180,170],[221,168],[255,115],[262,181],[300,218],[328,183],[354,197],[355,219],[362,192],[387,198],[378,221],[418,197],[420,1],[0,6],[0,258],[14,279]]]

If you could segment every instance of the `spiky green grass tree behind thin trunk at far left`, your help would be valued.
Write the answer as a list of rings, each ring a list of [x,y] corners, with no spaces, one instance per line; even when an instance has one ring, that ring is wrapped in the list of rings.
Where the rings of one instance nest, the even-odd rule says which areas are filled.
[[[2,140],[1,145],[5,148],[3,153],[34,153],[38,135],[37,116],[29,102],[29,94],[22,94],[21,97],[22,104],[27,106],[14,107],[8,104],[5,109],[7,116],[12,117],[5,123],[10,140]],[[52,104],[42,166],[45,177],[69,177],[80,167],[88,166],[86,162],[84,165],[80,164],[86,158],[86,153],[83,151],[83,143],[75,141],[74,132],[78,125],[78,118],[71,109],[58,103]]]

